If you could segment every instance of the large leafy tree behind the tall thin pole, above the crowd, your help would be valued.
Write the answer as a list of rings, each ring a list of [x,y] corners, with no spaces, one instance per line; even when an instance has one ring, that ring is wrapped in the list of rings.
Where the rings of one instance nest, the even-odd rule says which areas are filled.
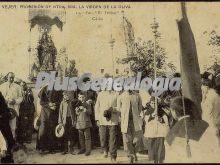
[[[159,37],[158,37],[159,39]],[[166,68],[170,68],[172,72],[176,71],[176,67],[167,62],[166,51],[162,48],[157,40],[156,42],[156,67],[157,76],[164,76]],[[138,38],[136,42],[136,51],[134,56],[118,59],[120,64],[129,64],[132,72],[142,72],[143,77],[154,77],[154,42],[152,40],[143,41]]]

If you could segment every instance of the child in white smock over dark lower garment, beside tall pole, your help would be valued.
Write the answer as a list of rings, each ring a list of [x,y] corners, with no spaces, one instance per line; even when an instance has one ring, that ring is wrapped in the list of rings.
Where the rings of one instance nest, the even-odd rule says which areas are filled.
[[[163,163],[165,159],[164,140],[169,130],[169,122],[162,105],[159,103],[155,111],[155,98],[151,98],[144,111],[146,122],[144,137],[148,143],[150,161]]]

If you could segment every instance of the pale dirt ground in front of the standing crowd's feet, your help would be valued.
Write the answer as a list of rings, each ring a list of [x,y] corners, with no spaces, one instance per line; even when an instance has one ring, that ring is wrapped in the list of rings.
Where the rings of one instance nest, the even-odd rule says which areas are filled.
[[[79,164],[85,164],[85,163],[105,163],[109,164],[111,163],[110,158],[104,158],[103,154],[101,153],[100,148],[93,149],[91,152],[91,155],[84,156],[84,155],[71,155],[66,154],[62,155],[61,153],[55,153],[55,154],[45,154],[40,155],[38,151],[35,149],[35,137],[33,138],[33,142],[31,144],[25,144],[28,149],[28,158],[27,163],[30,164],[66,164],[66,163],[79,163]],[[79,150],[75,149],[75,152],[77,153]],[[128,158],[126,152],[121,148],[118,150],[118,158],[117,163],[128,163]],[[150,163],[148,160],[147,155],[139,155],[138,156],[138,163]]]

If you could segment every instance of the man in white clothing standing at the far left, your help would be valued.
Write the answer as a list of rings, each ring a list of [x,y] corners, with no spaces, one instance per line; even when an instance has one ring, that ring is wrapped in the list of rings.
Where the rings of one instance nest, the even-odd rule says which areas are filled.
[[[6,100],[9,108],[14,109],[19,116],[19,107],[22,102],[22,90],[21,87],[14,83],[15,74],[13,72],[8,73],[7,82],[0,86],[0,91]],[[10,120],[10,127],[12,130],[13,137],[15,138],[15,130],[17,128],[17,117]]]

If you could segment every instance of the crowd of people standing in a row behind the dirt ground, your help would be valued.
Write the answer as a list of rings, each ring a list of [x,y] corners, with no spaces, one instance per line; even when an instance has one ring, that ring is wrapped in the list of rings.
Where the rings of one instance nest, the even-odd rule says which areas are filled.
[[[155,98],[149,90],[150,99],[143,104],[139,91],[50,91],[47,85],[38,93],[41,108],[36,115],[36,98],[31,89],[23,81],[16,84],[14,78],[10,72],[7,82],[0,85],[0,135],[5,139],[0,148],[1,161],[6,163],[16,162],[15,159],[24,161],[25,158],[16,158],[14,153],[26,152],[24,144],[32,142],[34,128],[36,150],[40,154],[89,156],[100,146],[103,157],[116,163],[117,151],[123,146],[130,163],[137,162],[137,153],[144,150],[149,161],[163,163],[165,138],[170,130],[184,118],[196,119],[196,113],[192,113],[196,109],[189,99],[184,98],[187,108],[183,108],[181,91],[166,91]],[[207,85],[207,81],[203,84]],[[217,85],[215,89],[219,92]],[[219,133],[219,113],[215,112],[217,117],[213,120]]]

